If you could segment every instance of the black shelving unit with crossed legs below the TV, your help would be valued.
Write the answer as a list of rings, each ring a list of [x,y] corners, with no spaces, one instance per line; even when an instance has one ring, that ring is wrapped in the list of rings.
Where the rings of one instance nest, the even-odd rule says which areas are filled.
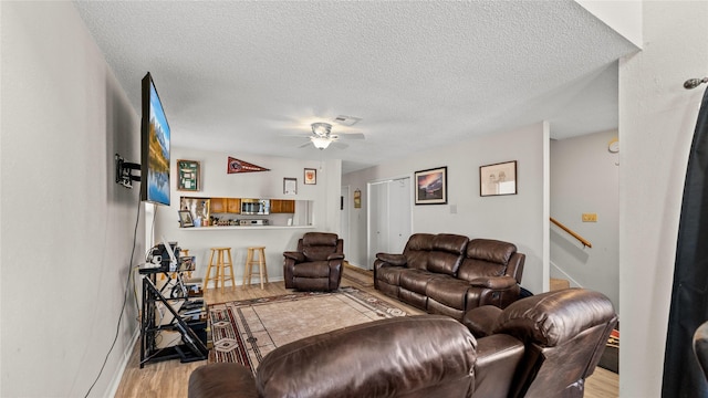
[[[194,266],[192,266],[194,268]],[[183,273],[192,271],[180,264],[177,271],[176,286],[170,283],[168,270],[164,268],[143,268],[139,273],[143,275],[143,314],[140,318],[140,368],[145,364],[179,359],[181,363],[207,359],[209,349],[206,346],[207,322],[198,320],[183,320],[174,304],[187,302],[196,297],[189,297],[183,284]],[[168,279],[162,289],[157,289],[156,280],[158,274],[164,274]],[[168,296],[165,294],[168,292]],[[156,322],[157,304],[162,303],[173,316],[168,324]],[[183,303],[184,304],[184,303]],[[163,316],[167,316],[166,313]],[[179,332],[181,344],[167,347],[157,347],[156,337],[167,331]],[[199,332],[199,333],[197,333]]]

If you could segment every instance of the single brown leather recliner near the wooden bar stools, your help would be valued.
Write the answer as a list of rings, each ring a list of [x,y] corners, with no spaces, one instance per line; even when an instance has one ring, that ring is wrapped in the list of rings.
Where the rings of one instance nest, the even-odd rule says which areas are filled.
[[[283,253],[287,289],[333,291],[342,282],[344,242],[336,233],[308,232],[298,251]]]

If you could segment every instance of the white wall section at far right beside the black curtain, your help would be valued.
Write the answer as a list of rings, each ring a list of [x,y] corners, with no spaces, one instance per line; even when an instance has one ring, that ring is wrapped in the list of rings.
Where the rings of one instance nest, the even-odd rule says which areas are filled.
[[[644,51],[620,63],[622,397],[660,394],[678,219],[708,74],[708,2],[644,2]]]

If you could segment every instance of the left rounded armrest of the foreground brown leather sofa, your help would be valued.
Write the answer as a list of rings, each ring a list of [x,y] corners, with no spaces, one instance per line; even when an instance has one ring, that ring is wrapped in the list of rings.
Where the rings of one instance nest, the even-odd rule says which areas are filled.
[[[188,398],[258,398],[251,370],[239,364],[208,364],[189,375]]]

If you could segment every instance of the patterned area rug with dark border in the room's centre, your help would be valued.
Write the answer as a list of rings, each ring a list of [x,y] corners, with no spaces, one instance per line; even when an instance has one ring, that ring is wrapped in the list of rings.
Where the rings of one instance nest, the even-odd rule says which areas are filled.
[[[214,349],[209,363],[239,363],[256,373],[284,344],[374,320],[408,315],[356,287],[209,305]]]

